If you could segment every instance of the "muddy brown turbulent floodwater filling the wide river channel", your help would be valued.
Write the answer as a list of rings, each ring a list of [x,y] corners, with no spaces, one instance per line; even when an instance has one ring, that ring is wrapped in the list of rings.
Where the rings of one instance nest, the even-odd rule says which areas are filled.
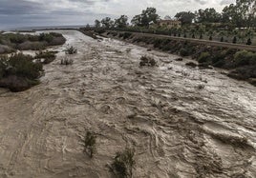
[[[174,55],[60,32],[67,43],[40,85],[0,89],[0,177],[112,177],[106,165],[126,147],[136,149],[134,177],[256,177],[255,87]],[[66,56],[67,46],[78,53]],[[139,68],[143,54],[158,67]],[[60,65],[66,57],[72,66]]]

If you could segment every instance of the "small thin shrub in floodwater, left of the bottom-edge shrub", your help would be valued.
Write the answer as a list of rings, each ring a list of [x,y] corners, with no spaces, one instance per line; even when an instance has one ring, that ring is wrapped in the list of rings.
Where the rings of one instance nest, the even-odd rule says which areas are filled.
[[[91,158],[96,152],[96,135],[90,131],[87,131],[84,138],[84,152],[86,152]]]

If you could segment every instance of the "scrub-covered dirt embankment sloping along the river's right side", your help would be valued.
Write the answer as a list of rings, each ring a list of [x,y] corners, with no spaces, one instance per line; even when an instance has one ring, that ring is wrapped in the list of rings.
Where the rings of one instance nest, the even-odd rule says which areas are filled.
[[[106,31],[101,35],[148,49],[160,49],[184,57],[190,56],[198,64],[190,63],[188,66],[227,69],[229,77],[245,80],[256,86],[256,53],[253,52],[256,49],[253,47],[131,32]]]

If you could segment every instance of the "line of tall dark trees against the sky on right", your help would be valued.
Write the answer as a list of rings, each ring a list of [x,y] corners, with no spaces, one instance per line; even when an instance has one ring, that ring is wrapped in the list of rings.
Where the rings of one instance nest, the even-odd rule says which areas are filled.
[[[234,28],[255,28],[256,27],[256,1],[255,0],[236,0],[235,4],[230,4],[224,7],[222,12],[216,11],[214,8],[205,10],[181,11],[175,16],[175,19],[180,20],[182,26],[192,23],[220,23]],[[166,16],[168,18],[168,16]],[[142,10],[140,14],[135,15],[131,24],[137,27],[148,28],[150,24],[157,23],[160,20],[160,15],[155,8],[147,8]],[[128,16],[121,15],[113,20],[110,17],[105,17],[102,20],[95,21],[96,28],[126,28],[129,25]]]

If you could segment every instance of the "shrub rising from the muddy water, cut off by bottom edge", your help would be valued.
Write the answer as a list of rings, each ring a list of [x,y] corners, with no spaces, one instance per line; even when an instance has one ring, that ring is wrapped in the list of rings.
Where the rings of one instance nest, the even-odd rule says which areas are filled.
[[[135,168],[135,149],[126,148],[122,152],[117,152],[109,170],[118,178],[133,177],[133,168]]]

